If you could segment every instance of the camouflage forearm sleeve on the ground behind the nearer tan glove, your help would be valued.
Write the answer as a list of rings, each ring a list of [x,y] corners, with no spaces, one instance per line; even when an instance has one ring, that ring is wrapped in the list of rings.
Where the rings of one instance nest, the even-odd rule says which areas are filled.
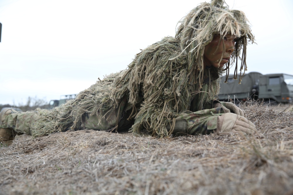
[[[217,117],[222,114],[224,110],[220,107],[182,114],[176,117],[175,124],[168,125],[167,129],[176,135],[210,134],[217,128]]]

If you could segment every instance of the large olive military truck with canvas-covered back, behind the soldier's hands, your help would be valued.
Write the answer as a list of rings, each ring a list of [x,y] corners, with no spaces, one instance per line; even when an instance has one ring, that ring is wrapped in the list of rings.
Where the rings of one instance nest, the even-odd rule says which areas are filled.
[[[221,88],[219,93],[220,101],[244,102],[247,99],[254,99],[266,103],[292,103],[293,99],[293,75],[288,74],[267,74],[258,72],[245,74],[241,80],[233,79],[233,75],[221,77]]]

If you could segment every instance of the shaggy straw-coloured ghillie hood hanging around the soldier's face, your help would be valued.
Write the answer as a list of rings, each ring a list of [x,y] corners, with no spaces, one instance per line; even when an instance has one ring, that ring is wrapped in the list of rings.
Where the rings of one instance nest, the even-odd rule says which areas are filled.
[[[188,63],[194,64],[196,75],[194,79],[199,78],[200,85],[203,77],[204,48],[212,41],[214,35],[220,35],[220,39],[224,39],[226,35],[236,36],[235,50],[232,52],[230,59],[231,63],[229,61],[224,69],[227,70],[226,79],[229,75],[230,64],[234,62],[236,63],[234,79],[237,79],[238,59],[241,60],[239,82],[247,70],[246,46],[247,42],[254,42],[254,35],[251,32],[246,15],[239,10],[229,10],[229,6],[224,6],[224,3],[224,0],[201,3],[178,23],[175,37],[180,39],[181,54],[187,54]],[[243,69],[244,72],[242,73]],[[194,80],[193,82],[197,81]]]

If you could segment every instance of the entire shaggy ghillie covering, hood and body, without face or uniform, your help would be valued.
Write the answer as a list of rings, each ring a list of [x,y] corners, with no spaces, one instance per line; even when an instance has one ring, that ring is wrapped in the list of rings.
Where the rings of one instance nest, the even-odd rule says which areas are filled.
[[[51,111],[38,110],[33,136],[77,130],[84,113],[105,120],[106,114],[116,111],[125,97],[132,104],[129,119],[135,118],[131,129],[134,133],[147,130],[156,137],[169,136],[166,125],[176,116],[203,109],[218,94],[219,80],[205,82],[204,78],[229,72],[230,63],[225,69],[211,67],[204,71],[203,51],[213,35],[224,39],[232,34],[239,38],[231,59],[236,61],[235,69],[237,58],[242,60],[240,69],[246,69],[247,39],[254,42],[248,20],[243,12],[223,5],[221,0],[200,4],[178,23],[175,37],[165,37],[142,50],[127,70],[98,81],[74,101]]]

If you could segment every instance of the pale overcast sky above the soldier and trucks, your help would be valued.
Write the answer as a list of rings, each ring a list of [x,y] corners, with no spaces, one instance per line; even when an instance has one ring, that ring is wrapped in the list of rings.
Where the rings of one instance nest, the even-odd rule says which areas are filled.
[[[204,0],[0,0],[0,104],[77,94],[127,68],[139,49],[174,36]],[[246,13],[257,44],[248,72],[293,75],[291,0],[226,0]]]

